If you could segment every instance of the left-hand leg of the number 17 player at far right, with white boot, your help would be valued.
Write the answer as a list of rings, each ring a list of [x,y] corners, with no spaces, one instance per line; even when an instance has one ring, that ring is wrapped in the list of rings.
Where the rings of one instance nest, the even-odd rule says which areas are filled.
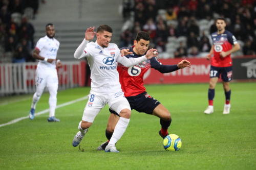
[[[218,82],[218,77],[210,78],[209,89],[208,89],[208,107],[205,109],[205,114],[214,113],[214,96],[215,96],[215,86]]]

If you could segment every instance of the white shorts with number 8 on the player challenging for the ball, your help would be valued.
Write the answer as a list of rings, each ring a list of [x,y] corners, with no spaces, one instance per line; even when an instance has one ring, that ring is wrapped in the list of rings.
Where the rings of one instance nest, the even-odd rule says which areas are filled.
[[[93,123],[96,115],[106,104],[109,105],[111,110],[114,110],[118,114],[123,109],[131,110],[130,104],[124,97],[122,91],[109,94],[104,93],[101,95],[95,94],[91,91],[89,94],[89,100],[83,111],[82,120]]]

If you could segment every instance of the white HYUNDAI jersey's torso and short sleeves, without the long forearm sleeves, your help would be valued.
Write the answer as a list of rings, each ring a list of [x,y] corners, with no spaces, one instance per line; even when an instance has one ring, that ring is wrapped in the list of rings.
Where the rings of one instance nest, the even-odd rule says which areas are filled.
[[[101,47],[97,42],[89,42],[84,48],[83,56],[87,57],[91,68],[91,88],[94,92],[111,93],[121,91],[117,72],[117,57],[120,55],[118,46],[109,43]]]

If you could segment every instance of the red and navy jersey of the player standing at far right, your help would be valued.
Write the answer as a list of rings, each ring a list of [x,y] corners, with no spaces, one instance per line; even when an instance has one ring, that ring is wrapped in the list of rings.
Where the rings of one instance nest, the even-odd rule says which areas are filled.
[[[232,66],[230,55],[221,57],[221,52],[226,52],[232,49],[233,44],[238,43],[236,37],[232,33],[226,31],[222,34],[217,32],[211,34],[212,44],[214,45],[214,57],[211,58],[211,65],[215,67]]]

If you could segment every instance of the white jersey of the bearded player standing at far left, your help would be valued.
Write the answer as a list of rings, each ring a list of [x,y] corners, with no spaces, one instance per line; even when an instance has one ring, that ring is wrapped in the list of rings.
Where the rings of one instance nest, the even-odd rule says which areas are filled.
[[[49,38],[46,35],[37,41],[35,48],[37,48],[40,51],[39,56],[46,57],[49,59],[56,59],[57,52],[59,49],[59,41],[55,38]],[[44,60],[39,60],[37,67],[42,69],[55,69],[56,62],[49,63]]]

